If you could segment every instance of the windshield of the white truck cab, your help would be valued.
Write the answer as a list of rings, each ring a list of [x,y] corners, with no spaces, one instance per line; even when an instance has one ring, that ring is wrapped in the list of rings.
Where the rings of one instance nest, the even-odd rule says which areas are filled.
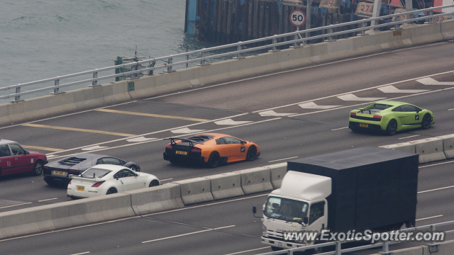
[[[307,216],[307,210],[308,204],[303,201],[271,196],[267,199],[263,213],[267,217],[298,222]]]

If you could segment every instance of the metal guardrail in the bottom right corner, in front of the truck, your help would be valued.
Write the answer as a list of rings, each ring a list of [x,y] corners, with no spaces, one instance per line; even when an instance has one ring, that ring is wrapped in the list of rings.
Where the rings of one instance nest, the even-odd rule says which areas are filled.
[[[416,231],[416,230],[429,229],[429,231],[433,234],[433,232],[436,230],[436,227],[441,227],[441,226],[445,226],[445,225],[454,225],[454,220],[448,221],[448,222],[440,222],[440,223],[436,223],[436,224],[432,224],[432,225],[425,225],[425,226],[421,226],[421,227],[410,227],[410,228],[406,228],[406,229],[400,229],[399,231],[404,232],[404,231]],[[390,232],[387,232],[387,233],[390,233]],[[445,234],[453,234],[453,233],[454,233],[454,230],[445,231]],[[370,236],[363,236],[363,237],[370,237]],[[308,245],[308,246],[303,246],[303,247],[298,247],[298,248],[284,249],[282,251],[272,251],[272,252],[262,253],[262,254],[258,254],[258,255],[278,255],[278,254],[293,255],[294,251],[306,251],[306,250],[310,250],[310,249],[316,249],[316,248],[328,247],[328,246],[335,246],[336,250],[323,252],[319,255],[341,255],[345,252],[361,251],[361,250],[372,249],[372,248],[377,248],[377,247],[383,247],[382,251],[380,251],[380,254],[390,255],[390,254],[392,254],[392,251],[389,251],[389,245],[402,243],[401,241],[380,242],[377,244],[369,244],[369,245],[357,246],[357,247],[353,247],[353,248],[342,249],[341,244],[345,244],[348,242],[355,242],[355,241],[352,240],[352,241],[345,241],[345,242],[326,242],[323,244],[313,244],[313,245]],[[356,242],[358,242],[358,241],[356,241]],[[429,246],[429,249],[431,252],[438,251],[438,243],[431,241],[431,243],[427,244],[427,245]]]

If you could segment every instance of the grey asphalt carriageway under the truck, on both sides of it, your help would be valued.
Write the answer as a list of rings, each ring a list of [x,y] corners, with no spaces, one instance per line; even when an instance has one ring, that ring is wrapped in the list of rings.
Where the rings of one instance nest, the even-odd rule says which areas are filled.
[[[450,203],[454,188],[446,188],[454,183],[454,176],[450,174],[454,162],[443,163],[419,169],[417,226],[454,220],[454,205]],[[271,249],[260,243],[261,221],[253,217],[251,208],[253,205],[261,208],[266,196],[267,193],[260,193],[101,224],[0,239],[0,254],[259,254]],[[454,225],[443,227],[443,230],[448,229],[454,229]],[[448,239],[453,237],[448,236]],[[391,248],[416,245],[421,243],[395,244]]]

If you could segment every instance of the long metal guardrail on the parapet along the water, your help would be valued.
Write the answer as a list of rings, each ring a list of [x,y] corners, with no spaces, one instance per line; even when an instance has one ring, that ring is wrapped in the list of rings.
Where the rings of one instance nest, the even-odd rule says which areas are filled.
[[[268,36],[266,38],[259,38],[259,39],[254,39],[254,40],[248,40],[245,42],[236,42],[236,43],[231,43],[228,45],[203,48],[201,50],[194,50],[192,52],[184,52],[184,53],[179,53],[176,55],[169,55],[166,57],[157,57],[157,58],[153,58],[150,60],[142,60],[142,61],[128,63],[128,64],[120,64],[120,65],[116,65],[116,66],[112,66],[112,67],[94,69],[94,70],[90,70],[90,71],[86,71],[86,72],[79,72],[76,74],[67,74],[67,75],[54,77],[54,78],[42,79],[39,81],[31,81],[31,82],[26,82],[23,84],[16,84],[16,85],[12,85],[12,86],[1,87],[0,91],[16,89],[16,93],[9,94],[6,96],[0,96],[0,99],[14,97],[15,100],[11,101],[12,103],[14,103],[17,101],[21,101],[22,95],[35,94],[40,91],[52,91],[53,90],[53,93],[51,93],[51,94],[60,94],[60,93],[64,93],[64,92],[60,92],[60,88],[65,88],[67,86],[74,86],[74,85],[78,85],[78,84],[87,84],[87,83],[92,83],[92,85],[90,85],[90,86],[100,86],[98,84],[98,81],[100,81],[100,80],[111,79],[114,77],[121,77],[121,76],[126,76],[126,75],[129,75],[131,79],[134,79],[140,73],[155,70],[155,69],[164,69],[163,72],[174,72],[175,71],[174,67],[179,66],[179,65],[189,64],[189,63],[193,63],[193,62],[200,62],[200,65],[204,66],[204,65],[206,65],[206,60],[214,60],[216,58],[227,57],[227,56],[231,56],[231,55],[235,55],[235,57],[234,57],[235,59],[241,59],[241,58],[243,58],[243,54],[246,52],[253,52],[253,51],[257,51],[257,50],[267,50],[267,49],[271,49],[270,52],[277,52],[277,51],[279,51],[279,50],[277,50],[277,47],[279,47],[279,46],[291,45],[290,47],[300,47],[299,46],[300,43],[305,45],[306,41],[308,41],[308,40],[314,40],[314,39],[320,39],[320,38],[323,40],[324,38],[328,38],[328,41],[332,41],[333,36],[343,35],[343,34],[348,34],[348,33],[356,33],[356,32],[359,32],[358,35],[366,35],[365,34],[366,30],[382,28],[382,27],[399,28],[399,25],[402,25],[404,23],[413,23],[415,21],[427,20],[428,23],[432,23],[433,18],[454,14],[454,12],[450,12],[450,13],[441,13],[441,14],[433,15],[433,10],[441,9],[441,8],[448,8],[448,7],[454,7],[454,4],[432,7],[432,8],[425,8],[425,9],[420,9],[420,10],[416,10],[416,11],[407,11],[404,13],[395,13],[395,14],[391,14],[391,15],[387,15],[387,16],[376,17],[376,18],[364,18],[360,21],[351,21],[351,22],[340,23],[340,24],[336,24],[336,25],[322,26],[319,28],[299,30],[299,31],[295,31],[292,33],[285,33],[285,34],[281,34],[281,35],[272,35],[272,36]],[[428,16],[419,17],[419,18],[411,18],[411,19],[406,19],[404,21],[399,21],[399,16],[408,17],[409,14],[421,13],[421,12],[427,12]],[[393,21],[393,22],[382,23],[382,24],[375,25],[375,26],[367,26],[367,23],[370,23],[370,21],[387,20],[387,19],[393,18],[393,17],[395,17],[395,21]],[[357,24],[360,24],[360,28],[343,30],[343,31],[333,33],[333,28],[340,28],[343,26],[353,26],[353,25],[357,25]],[[322,34],[311,36],[311,37],[306,37],[306,38],[301,37],[301,34],[305,35],[307,33],[309,35],[309,33],[317,32],[317,31],[321,31]],[[327,31],[327,33],[323,34],[323,32],[326,32],[326,31]],[[281,39],[285,40],[285,38],[287,38],[287,37],[293,37],[294,40],[286,40],[284,42],[277,42],[278,40],[281,40]],[[262,46],[258,46],[258,47],[245,48],[246,45],[251,45],[251,44],[257,43],[257,42],[267,42],[269,40],[271,40],[271,42],[272,42],[271,44],[262,45]],[[228,51],[225,53],[216,54],[216,51],[228,50],[228,48],[231,48],[231,47],[235,47],[236,50],[231,50],[231,51]],[[209,52],[212,52],[213,55],[208,55]],[[173,62],[173,60],[177,57],[184,57],[185,59],[187,59],[188,56],[193,56],[193,55],[200,55],[200,57],[195,57],[194,59],[185,60],[185,61],[181,61],[181,62]],[[159,65],[155,65],[154,67],[148,67],[148,68],[143,68],[143,69],[137,68],[138,65],[151,64],[152,62],[156,63],[158,61],[162,61],[162,62],[164,62],[164,64],[159,64]],[[101,76],[101,77],[98,76],[99,72],[110,71],[110,70],[114,70],[114,69],[121,68],[121,67],[131,67],[131,70],[133,70],[133,71],[122,72],[119,74],[110,74],[110,75],[105,75],[105,76]],[[68,82],[66,84],[60,84],[60,80],[62,80],[62,79],[70,79],[73,77],[82,77],[84,75],[92,75],[92,79],[82,79],[80,81],[72,81],[72,82]],[[48,82],[54,82],[54,86],[48,86],[45,88],[33,89],[30,91],[21,92],[21,88],[23,88],[23,87],[32,86],[32,85],[36,85],[36,84],[45,84]]]

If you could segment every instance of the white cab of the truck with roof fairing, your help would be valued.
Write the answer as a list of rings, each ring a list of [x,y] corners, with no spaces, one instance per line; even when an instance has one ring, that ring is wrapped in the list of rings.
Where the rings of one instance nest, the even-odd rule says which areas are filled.
[[[317,231],[327,227],[331,178],[287,171],[281,188],[272,191],[263,205],[262,244],[273,250],[291,249],[314,242],[293,238],[285,240],[284,233]]]

